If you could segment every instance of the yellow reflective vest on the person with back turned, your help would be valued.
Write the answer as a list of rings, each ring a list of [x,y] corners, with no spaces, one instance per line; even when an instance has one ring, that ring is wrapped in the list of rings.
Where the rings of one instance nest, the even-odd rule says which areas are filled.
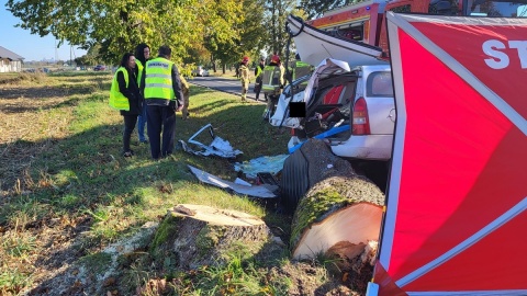
[[[145,100],[164,99],[173,100],[176,94],[172,88],[173,62],[158,57],[146,62],[145,71]]]

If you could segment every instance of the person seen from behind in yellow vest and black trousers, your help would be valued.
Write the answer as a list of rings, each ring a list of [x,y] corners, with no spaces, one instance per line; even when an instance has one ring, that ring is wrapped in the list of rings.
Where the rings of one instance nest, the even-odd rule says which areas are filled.
[[[178,67],[170,60],[171,53],[167,45],[159,47],[157,58],[146,62],[141,81],[146,103],[146,130],[155,160],[172,153],[176,112],[183,107],[181,80]]]

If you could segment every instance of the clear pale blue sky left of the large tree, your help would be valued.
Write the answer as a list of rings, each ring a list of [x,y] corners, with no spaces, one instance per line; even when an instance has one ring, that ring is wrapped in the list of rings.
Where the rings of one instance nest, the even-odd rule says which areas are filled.
[[[24,61],[40,61],[43,59],[69,60],[86,55],[86,50],[72,47],[70,55],[69,44],[56,48],[58,41],[52,35],[45,37],[32,35],[29,30],[14,27],[20,20],[14,18],[5,8],[5,0],[0,0],[0,46],[24,58]]]

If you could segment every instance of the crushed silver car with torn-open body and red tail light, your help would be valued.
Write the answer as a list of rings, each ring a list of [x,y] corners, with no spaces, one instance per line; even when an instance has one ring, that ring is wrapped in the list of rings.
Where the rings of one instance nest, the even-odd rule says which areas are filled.
[[[290,117],[290,102],[304,102],[305,117]],[[395,123],[390,65],[350,68],[328,58],[309,78],[305,90],[293,98],[284,90],[270,123],[293,129],[290,152],[307,138],[323,138],[337,156],[388,160]]]

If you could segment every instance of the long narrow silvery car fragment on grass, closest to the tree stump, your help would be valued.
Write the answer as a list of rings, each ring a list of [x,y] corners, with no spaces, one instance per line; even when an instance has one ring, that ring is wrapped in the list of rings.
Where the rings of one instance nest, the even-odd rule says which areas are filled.
[[[213,174],[204,172],[190,164],[187,164],[187,166],[201,182],[215,185],[221,189],[232,190],[236,193],[248,195],[248,196],[262,197],[262,198],[277,197],[277,195],[272,193],[272,190],[269,190],[269,185],[247,186],[247,185],[236,184],[234,182],[222,180]]]

